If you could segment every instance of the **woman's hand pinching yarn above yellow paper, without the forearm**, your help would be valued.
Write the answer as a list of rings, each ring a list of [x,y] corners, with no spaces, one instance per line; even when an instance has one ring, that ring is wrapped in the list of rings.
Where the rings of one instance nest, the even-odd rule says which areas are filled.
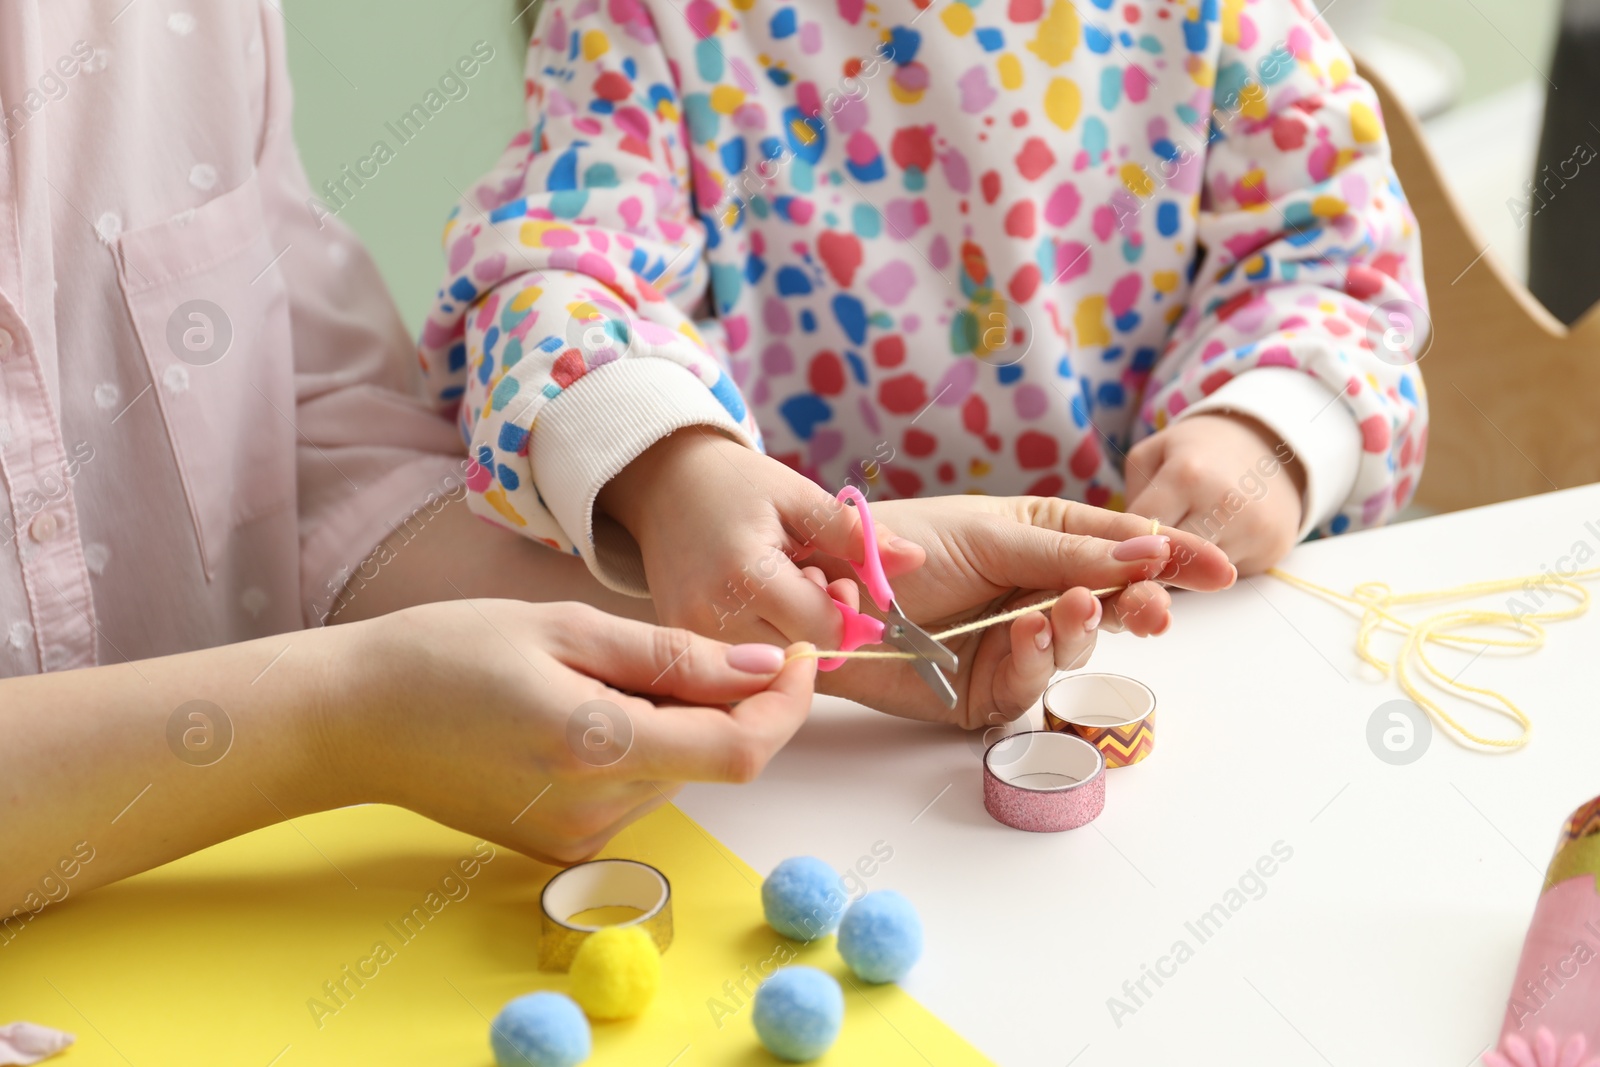
[[[384,699],[342,729],[368,800],[549,862],[594,856],[683,782],[749,782],[805,721],[816,661],[578,603],[458,600],[371,624]]]

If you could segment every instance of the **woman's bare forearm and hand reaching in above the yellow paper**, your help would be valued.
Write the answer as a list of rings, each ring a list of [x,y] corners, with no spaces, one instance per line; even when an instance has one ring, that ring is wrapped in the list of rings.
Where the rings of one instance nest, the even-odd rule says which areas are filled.
[[[578,861],[680,782],[755,777],[814,670],[584,605],[454,600],[0,678],[0,915],[30,921],[69,862],[82,893],[371,800]]]

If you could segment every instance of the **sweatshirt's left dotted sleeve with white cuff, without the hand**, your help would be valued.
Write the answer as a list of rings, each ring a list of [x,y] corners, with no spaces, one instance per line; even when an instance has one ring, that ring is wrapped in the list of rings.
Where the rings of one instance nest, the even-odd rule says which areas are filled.
[[[696,330],[741,280],[707,269],[690,189],[707,202],[715,178],[693,173],[645,5],[546,3],[526,78],[530,130],[446,226],[424,371],[442,406],[461,405],[472,509],[646,595],[637,545],[595,498],[674,430],[760,446]]]

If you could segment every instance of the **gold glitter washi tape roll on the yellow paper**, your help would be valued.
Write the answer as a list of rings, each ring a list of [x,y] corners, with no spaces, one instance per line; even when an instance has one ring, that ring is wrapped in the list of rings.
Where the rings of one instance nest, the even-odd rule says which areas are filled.
[[[630,907],[638,915],[621,923],[573,921],[597,907]],[[672,885],[635,859],[594,859],[568,867],[546,883],[539,910],[541,971],[566,971],[578,945],[605,926],[643,926],[662,952],[672,944]]]

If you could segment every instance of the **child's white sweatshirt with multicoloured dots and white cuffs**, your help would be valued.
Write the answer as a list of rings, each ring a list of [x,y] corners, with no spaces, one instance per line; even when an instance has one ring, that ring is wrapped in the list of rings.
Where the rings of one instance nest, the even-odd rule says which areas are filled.
[[[526,102],[422,366],[472,507],[616,589],[595,498],[683,427],[1120,507],[1130,445],[1224,410],[1299,454],[1302,533],[1411,494],[1416,224],[1306,0],[547,0]]]

